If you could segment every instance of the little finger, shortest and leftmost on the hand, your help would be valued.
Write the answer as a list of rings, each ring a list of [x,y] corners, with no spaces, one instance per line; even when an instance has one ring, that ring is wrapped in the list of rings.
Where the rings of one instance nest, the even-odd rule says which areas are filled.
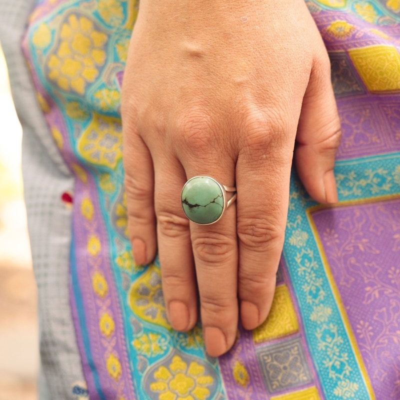
[[[135,262],[147,264],[156,251],[153,165],[150,152],[134,125],[126,120],[122,131],[129,239]]]

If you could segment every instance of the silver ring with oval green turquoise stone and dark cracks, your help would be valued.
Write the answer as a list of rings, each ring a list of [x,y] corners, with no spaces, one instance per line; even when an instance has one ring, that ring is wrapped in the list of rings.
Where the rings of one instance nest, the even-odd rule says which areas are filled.
[[[228,199],[230,192],[233,194]],[[193,176],[180,194],[183,212],[200,225],[216,222],[235,199],[236,187],[225,186],[210,176]]]

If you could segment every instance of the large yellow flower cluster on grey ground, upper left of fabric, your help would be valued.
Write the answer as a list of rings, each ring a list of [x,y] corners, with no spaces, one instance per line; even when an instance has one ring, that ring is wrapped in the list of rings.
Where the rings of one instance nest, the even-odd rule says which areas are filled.
[[[63,90],[83,94],[105,61],[105,33],[82,15],[69,14],[61,24],[60,42],[47,61],[48,77]]]

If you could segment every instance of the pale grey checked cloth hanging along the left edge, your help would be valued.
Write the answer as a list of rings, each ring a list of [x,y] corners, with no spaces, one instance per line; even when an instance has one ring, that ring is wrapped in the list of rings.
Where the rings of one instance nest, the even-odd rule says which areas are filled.
[[[61,193],[73,190],[73,177],[60,156],[20,50],[32,0],[0,0],[0,41],[12,96],[22,125],[22,174],[33,269],[38,286],[40,339],[39,400],[78,398],[84,387],[71,318],[69,246],[71,207]]]

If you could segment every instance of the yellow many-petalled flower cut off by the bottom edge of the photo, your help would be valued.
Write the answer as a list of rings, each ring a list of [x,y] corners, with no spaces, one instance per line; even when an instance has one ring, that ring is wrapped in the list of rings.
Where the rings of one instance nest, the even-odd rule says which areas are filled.
[[[210,391],[207,386],[213,377],[205,375],[205,368],[196,361],[189,365],[179,355],[174,355],[168,367],[161,365],[153,376],[150,390],[158,392],[159,400],[206,400]]]

